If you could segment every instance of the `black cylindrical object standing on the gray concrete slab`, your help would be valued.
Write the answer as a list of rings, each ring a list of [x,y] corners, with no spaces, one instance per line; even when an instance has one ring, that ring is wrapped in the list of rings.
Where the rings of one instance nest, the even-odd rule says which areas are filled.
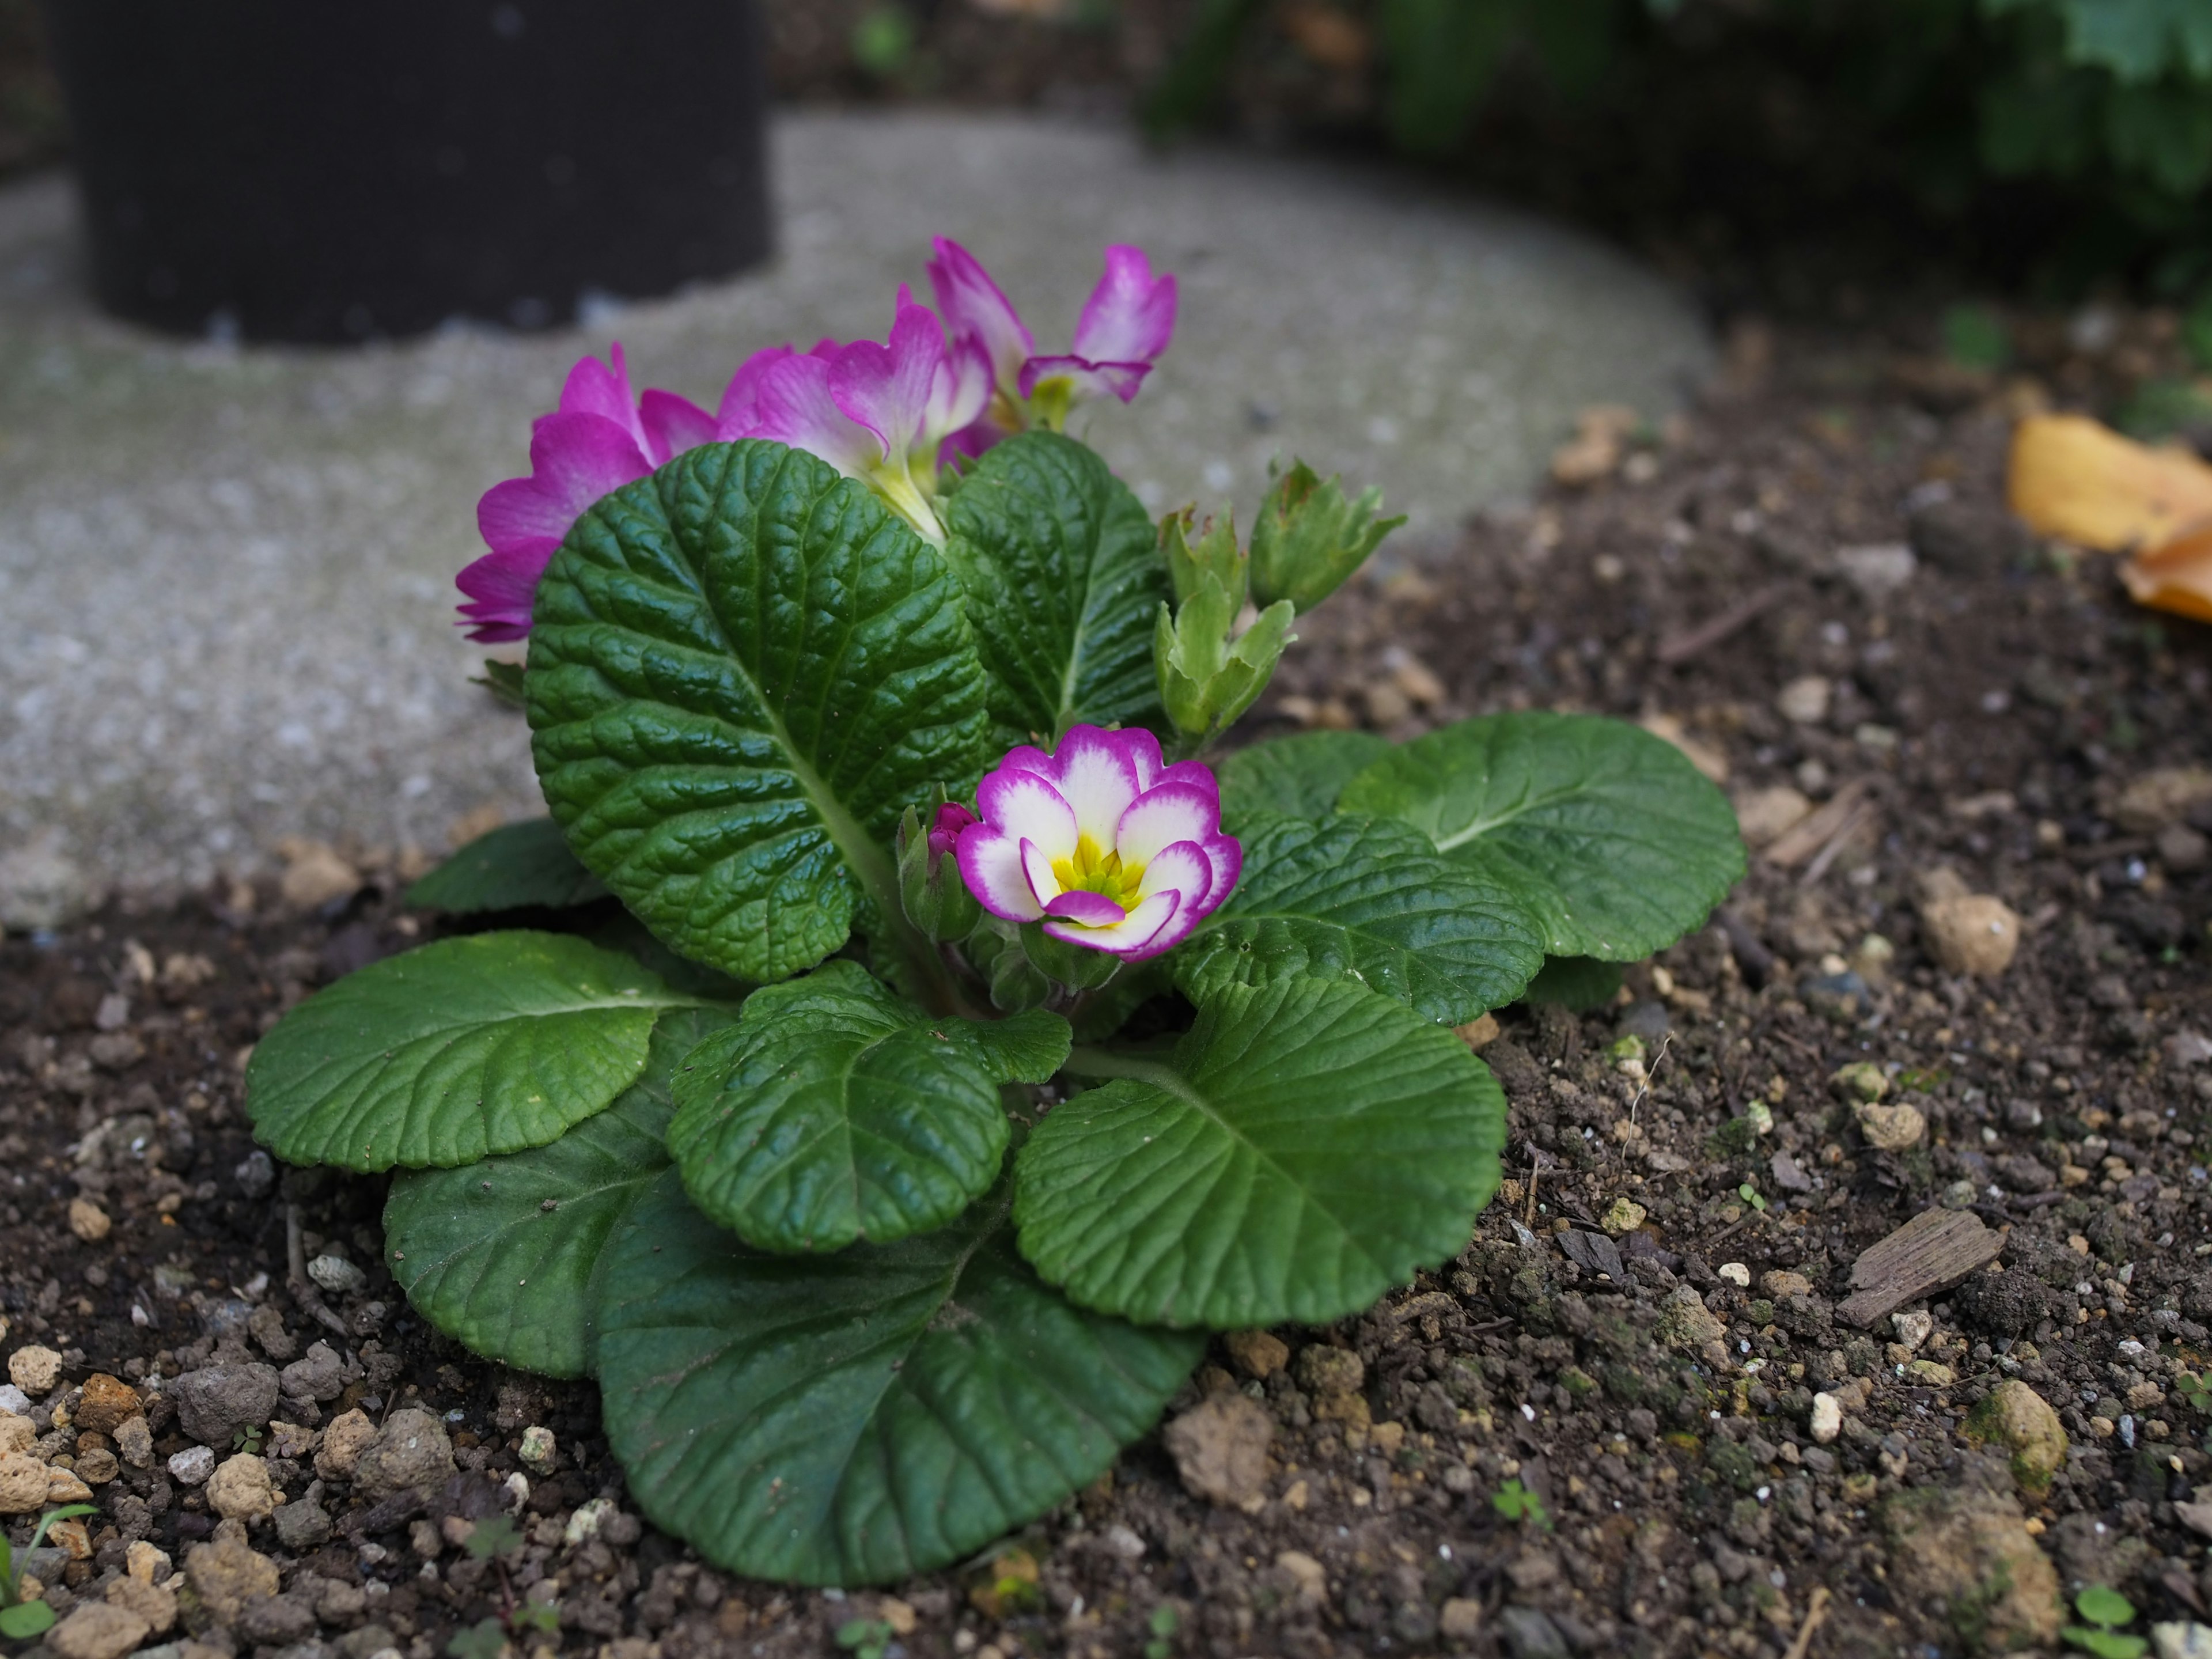
[[[752,0],[46,0],[93,285],[270,341],[544,327],[768,252]]]

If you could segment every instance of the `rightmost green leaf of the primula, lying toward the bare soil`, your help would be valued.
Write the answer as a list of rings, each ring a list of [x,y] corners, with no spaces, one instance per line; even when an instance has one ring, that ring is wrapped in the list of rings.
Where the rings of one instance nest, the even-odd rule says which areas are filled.
[[[1405,818],[1520,898],[1553,956],[1635,962],[1743,876],[1736,816],[1672,743],[1595,714],[1484,714],[1391,750],[1338,796]]]

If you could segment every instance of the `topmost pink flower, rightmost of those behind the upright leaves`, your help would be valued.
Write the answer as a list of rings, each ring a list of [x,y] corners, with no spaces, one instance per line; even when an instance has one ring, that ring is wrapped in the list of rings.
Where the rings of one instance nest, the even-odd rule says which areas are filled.
[[[1106,250],[1106,274],[1084,303],[1071,349],[1037,356],[1035,336],[975,254],[949,237],[931,246],[929,285],[947,327],[991,363],[991,411],[982,431],[962,434],[964,453],[1031,425],[1060,431],[1068,409],[1084,398],[1128,403],[1175,334],[1175,279],[1152,276],[1144,248],[1115,243]]]

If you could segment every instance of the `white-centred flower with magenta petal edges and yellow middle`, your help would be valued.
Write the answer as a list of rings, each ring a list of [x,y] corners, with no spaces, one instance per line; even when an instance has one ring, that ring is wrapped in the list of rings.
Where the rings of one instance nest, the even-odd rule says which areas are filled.
[[[1075,726],[1055,754],[1015,748],[975,805],[958,856],[978,902],[1128,960],[1181,945],[1243,869],[1214,774],[1164,765],[1146,730]]]

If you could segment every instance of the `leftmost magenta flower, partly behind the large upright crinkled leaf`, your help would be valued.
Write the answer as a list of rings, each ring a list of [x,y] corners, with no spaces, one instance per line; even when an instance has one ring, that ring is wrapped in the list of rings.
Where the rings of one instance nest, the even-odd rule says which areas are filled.
[[[476,504],[491,553],[456,577],[469,637],[522,639],[538,577],[584,509],[710,436],[708,414],[684,398],[648,392],[633,403],[619,343],[606,363],[588,356],[568,369],[560,407],[531,425],[531,476],[493,484]]]

